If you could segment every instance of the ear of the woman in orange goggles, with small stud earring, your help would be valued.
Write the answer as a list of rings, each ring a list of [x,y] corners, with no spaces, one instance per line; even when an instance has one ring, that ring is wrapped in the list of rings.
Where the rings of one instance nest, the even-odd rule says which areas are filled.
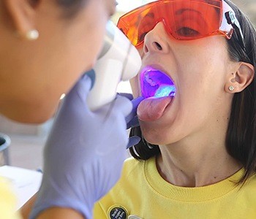
[[[236,72],[230,74],[228,82],[225,85],[225,91],[228,93],[239,93],[243,91],[253,80],[255,67],[246,62],[240,62]]]

